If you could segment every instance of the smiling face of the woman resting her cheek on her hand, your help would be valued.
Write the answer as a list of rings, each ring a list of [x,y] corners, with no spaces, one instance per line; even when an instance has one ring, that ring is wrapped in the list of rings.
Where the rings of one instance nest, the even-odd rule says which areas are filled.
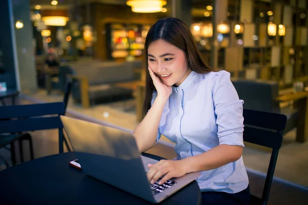
[[[148,47],[148,65],[166,86],[179,86],[189,75],[184,51],[159,39]]]

